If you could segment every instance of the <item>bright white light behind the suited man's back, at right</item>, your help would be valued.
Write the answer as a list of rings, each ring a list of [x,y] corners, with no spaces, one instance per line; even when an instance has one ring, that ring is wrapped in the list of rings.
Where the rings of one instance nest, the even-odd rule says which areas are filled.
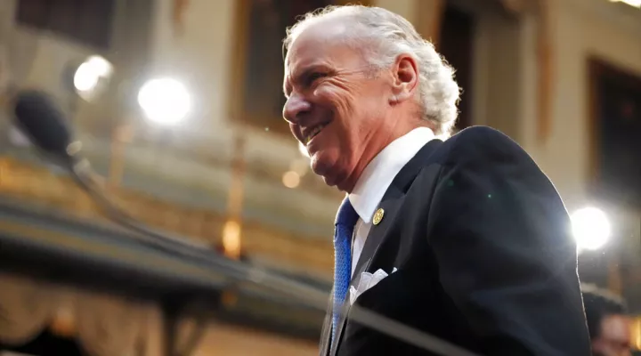
[[[579,250],[597,250],[610,239],[610,222],[596,207],[584,207],[572,216],[572,233]]]

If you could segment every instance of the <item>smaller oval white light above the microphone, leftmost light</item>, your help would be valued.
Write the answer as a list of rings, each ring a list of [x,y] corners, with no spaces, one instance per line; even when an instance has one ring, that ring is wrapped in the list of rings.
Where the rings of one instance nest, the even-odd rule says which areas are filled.
[[[85,100],[90,100],[105,88],[113,73],[111,63],[101,56],[86,59],[74,74],[74,87]]]

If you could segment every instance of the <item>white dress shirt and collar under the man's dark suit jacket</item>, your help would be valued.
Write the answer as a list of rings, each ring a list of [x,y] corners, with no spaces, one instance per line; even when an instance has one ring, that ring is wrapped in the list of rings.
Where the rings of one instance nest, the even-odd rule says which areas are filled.
[[[369,162],[349,194],[350,202],[359,220],[354,226],[352,239],[352,274],[356,269],[365,239],[369,234],[372,216],[403,166],[416,156],[427,142],[434,139],[434,132],[428,127],[418,127],[390,143]]]

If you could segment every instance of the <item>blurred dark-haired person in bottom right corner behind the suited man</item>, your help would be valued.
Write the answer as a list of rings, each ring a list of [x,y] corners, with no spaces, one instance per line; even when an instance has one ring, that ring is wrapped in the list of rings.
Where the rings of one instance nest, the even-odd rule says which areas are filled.
[[[583,287],[588,330],[595,356],[630,356],[632,322],[626,315],[621,298],[599,290]]]

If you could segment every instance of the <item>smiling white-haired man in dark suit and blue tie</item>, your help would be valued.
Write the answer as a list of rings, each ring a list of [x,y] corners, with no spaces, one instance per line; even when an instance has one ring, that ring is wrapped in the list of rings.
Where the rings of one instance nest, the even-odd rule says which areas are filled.
[[[351,305],[487,355],[589,354],[576,246],[554,186],[505,135],[457,117],[453,70],[410,22],[329,7],[285,39],[283,115],[345,191],[321,355],[426,355]],[[346,315],[346,317],[345,317]]]

